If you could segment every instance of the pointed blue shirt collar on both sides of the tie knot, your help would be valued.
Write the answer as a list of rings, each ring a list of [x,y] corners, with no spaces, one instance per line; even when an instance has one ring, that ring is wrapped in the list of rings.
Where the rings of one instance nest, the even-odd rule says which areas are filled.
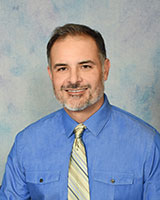
[[[89,119],[87,119],[83,124],[89,129],[89,131],[97,136],[102,128],[107,123],[111,113],[111,105],[107,99],[107,96],[104,94],[104,103],[101,108],[94,113]],[[62,123],[64,125],[65,133],[67,137],[70,137],[73,134],[74,128],[78,125],[63,109]]]

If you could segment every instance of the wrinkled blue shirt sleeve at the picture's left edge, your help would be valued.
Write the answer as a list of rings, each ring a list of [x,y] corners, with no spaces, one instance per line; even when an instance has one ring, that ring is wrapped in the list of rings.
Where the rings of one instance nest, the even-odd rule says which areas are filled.
[[[30,195],[25,182],[24,170],[21,166],[21,150],[18,149],[15,141],[11,152],[9,153],[5,174],[0,190],[1,200],[29,200]]]

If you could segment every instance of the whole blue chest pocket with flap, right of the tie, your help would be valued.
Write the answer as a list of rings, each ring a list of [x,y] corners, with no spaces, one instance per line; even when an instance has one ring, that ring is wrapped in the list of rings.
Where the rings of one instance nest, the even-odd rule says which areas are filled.
[[[93,197],[99,200],[132,200],[134,176],[130,173],[94,171]],[[96,199],[95,198],[95,199]]]

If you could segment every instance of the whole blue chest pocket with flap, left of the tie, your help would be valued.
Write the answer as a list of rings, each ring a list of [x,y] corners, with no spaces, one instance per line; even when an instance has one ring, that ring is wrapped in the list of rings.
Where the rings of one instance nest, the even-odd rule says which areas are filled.
[[[27,171],[26,183],[34,200],[60,199],[59,171]]]

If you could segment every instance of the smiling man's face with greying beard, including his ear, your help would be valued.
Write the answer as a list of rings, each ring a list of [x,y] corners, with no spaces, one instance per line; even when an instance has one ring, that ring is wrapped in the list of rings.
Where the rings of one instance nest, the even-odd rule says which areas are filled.
[[[51,48],[48,67],[58,101],[71,111],[80,111],[97,103],[104,93],[109,61],[104,72],[95,41],[89,36],[67,36]]]

